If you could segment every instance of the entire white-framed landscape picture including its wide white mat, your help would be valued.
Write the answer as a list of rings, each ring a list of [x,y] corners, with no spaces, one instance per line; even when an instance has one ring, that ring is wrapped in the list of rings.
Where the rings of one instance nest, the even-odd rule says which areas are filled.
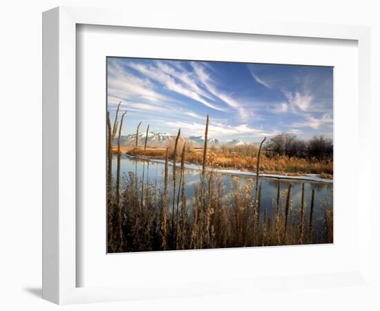
[[[43,21],[44,299],[368,282],[368,28]]]

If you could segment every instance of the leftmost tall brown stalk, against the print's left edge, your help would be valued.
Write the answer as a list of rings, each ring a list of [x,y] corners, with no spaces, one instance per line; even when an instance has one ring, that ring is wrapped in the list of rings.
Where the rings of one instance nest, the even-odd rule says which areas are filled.
[[[108,247],[113,251],[113,209],[112,209],[112,130],[110,113],[107,111],[107,218],[108,218]]]

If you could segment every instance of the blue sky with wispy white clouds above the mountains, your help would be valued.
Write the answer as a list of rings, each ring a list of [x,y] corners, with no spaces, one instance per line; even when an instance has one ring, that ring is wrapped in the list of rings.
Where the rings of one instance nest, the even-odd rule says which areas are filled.
[[[108,57],[108,111],[140,131],[258,142],[289,132],[332,138],[333,68]]]

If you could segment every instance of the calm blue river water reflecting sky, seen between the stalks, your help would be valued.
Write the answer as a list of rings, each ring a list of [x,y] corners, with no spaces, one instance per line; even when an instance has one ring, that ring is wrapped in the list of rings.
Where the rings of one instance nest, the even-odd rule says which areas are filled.
[[[113,173],[116,171],[116,156],[113,159]],[[123,155],[120,163],[122,176],[129,176],[129,174],[137,173],[139,180],[142,178],[142,169],[144,166],[144,182],[149,181],[151,185],[157,185],[158,188],[163,189],[163,180],[164,180],[164,164],[156,162],[144,162],[142,160],[131,159],[128,156]],[[169,178],[171,181],[171,171],[173,166],[169,166]],[[177,169],[177,191],[179,183],[179,169]],[[231,196],[233,189],[231,189],[231,180],[232,178],[238,178],[238,183],[240,186],[245,185],[247,182],[252,182],[255,178],[251,176],[238,176],[234,174],[216,174],[221,178],[222,184],[225,185],[224,196]],[[186,182],[186,191],[187,191],[187,200],[191,201],[191,198],[194,196],[194,185],[200,187],[200,171],[197,169],[186,169],[185,170],[185,182]],[[277,196],[277,185],[278,178],[263,178],[260,177],[261,182],[261,209],[260,215],[263,216],[265,213],[265,208],[267,208],[267,213],[272,214],[273,200],[276,200]],[[315,191],[314,197],[314,216],[313,222],[315,224],[314,230],[319,232],[322,230],[323,221],[319,221],[323,216],[322,210],[332,209],[333,199],[332,199],[332,183],[327,182],[314,182],[306,180],[287,180],[281,179],[281,191],[285,191],[289,184],[292,184],[292,209],[294,211],[301,209],[301,187],[302,184],[305,184],[305,205],[306,205],[306,215],[310,214],[310,201],[312,197],[312,189]],[[169,182],[169,185],[171,183]],[[169,187],[169,198],[171,198],[171,187]],[[285,195],[284,195],[285,196]],[[190,204],[189,204],[190,205]],[[283,202],[282,208],[285,203]]]

